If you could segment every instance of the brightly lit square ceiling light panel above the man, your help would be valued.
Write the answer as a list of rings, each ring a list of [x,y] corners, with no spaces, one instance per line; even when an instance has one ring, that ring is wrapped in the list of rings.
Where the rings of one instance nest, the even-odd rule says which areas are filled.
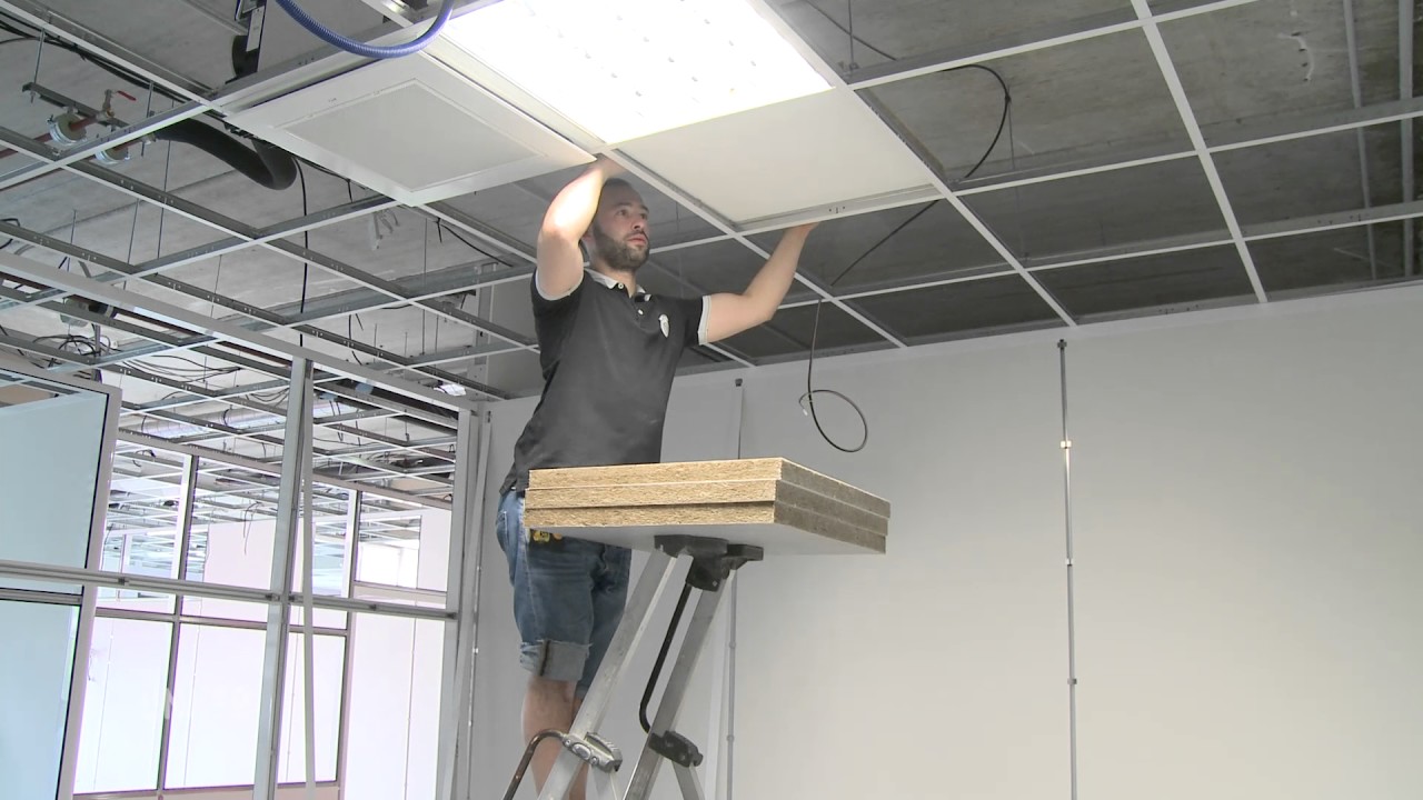
[[[445,36],[609,144],[830,88],[739,0],[502,0]]]

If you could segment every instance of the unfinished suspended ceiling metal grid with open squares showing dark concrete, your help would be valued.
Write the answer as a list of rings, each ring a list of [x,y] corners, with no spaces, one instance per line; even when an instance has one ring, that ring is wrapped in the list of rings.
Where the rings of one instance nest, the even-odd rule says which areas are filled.
[[[90,158],[101,145],[40,141],[57,111],[44,95],[128,93],[114,98],[118,134],[215,121],[235,91],[228,6],[0,0],[17,27],[0,34],[4,251],[376,370],[317,370],[320,471],[444,497],[454,409],[538,390],[534,233],[576,169],[411,208],[312,164],[273,191],[184,144],[104,165]],[[1412,3],[770,6],[914,149],[925,186],[847,198],[777,317],[689,353],[686,370],[804,359],[813,333],[817,354],[888,349],[1416,278]],[[41,27],[43,48],[26,37]],[[998,77],[975,65],[1002,75],[1006,117]],[[798,221],[737,228],[635,174],[653,292],[739,290],[778,223]],[[0,344],[120,384],[131,446],[279,464],[282,357],[166,315],[110,317],[58,279],[10,278]],[[467,394],[443,403],[434,386]]]

